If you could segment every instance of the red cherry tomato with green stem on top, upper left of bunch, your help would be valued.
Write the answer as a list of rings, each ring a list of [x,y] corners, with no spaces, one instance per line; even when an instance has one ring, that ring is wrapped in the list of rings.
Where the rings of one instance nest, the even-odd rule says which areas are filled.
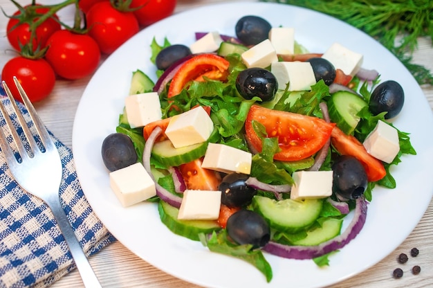
[[[36,6],[39,6],[39,4],[35,4]],[[30,5],[28,5],[30,6]],[[24,6],[24,8],[28,7]],[[36,12],[38,14],[44,14],[48,11],[48,8],[38,8],[36,9]],[[17,12],[14,13],[14,16],[20,15],[21,12],[17,10]],[[57,15],[54,15],[56,19],[58,19]],[[37,15],[29,15],[28,17],[25,17],[25,19],[17,18],[9,18],[8,26],[6,28],[7,37],[10,45],[17,49],[18,51],[21,50],[20,44],[24,45],[30,42],[30,23],[37,21],[39,17]],[[33,45],[33,51],[35,51],[38,46],[39,48],[44,48],[46,46],[46,41],[48,38],[55,33],[55,31],[60,30],[61,26],[59,22],[57,22],[53,18],[48,18],[46,21],[42,22],[41,25],[37,26],[36,28],[36,37],[33,39],[32,45]]]

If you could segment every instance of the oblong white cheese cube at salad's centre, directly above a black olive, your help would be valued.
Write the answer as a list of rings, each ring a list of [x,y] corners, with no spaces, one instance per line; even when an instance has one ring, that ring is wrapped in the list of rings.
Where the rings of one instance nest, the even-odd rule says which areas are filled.
[[[250,174],[251,162],[250,152],[224,144],[209,143],[201,167],[223,173]]]

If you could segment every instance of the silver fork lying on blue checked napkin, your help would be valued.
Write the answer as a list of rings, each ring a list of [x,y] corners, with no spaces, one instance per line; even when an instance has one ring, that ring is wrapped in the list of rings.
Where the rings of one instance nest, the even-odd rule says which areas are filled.
[[[62,162],[60,161],[59,152],[57,151],[50,134],[48,134],[44,123],[42,123],[42,120],[37,115],[32,103],[28,100],[26,92],[15,77],[14,82],[18,88],[24,105],[26,105],[28,114],[30,114],[30,118],[35,125],[37,134],[44,145],[44,150],[38,147],[26,120],[24,120],[24,117],[17,107],[17,103],[12,97],[12,93],[10,93],[8,85],[3,81],[3,88],[8,94],[14,112],[27,138],[28,145],[30,145],[30,152],[28,152],[8,116],[8,112],[0,103],[1,114],[3,114],[3,118],[6,120],[6,124],[10,129],[15,146],[19,152],[19,158],[21,158],[21,161],[19,161],[17,157],[15,157],[12,148],[6,140],[3,130],[0,129],[0,148],[6,158],[6,163],[8,163],[10,172],[19,183],[19,186],[30,194],[45,201],[48,207],[53,211],[53,215],[59,225],[60,231],[62,231],[62,234],[64,235],[66,243],[68,244],[84,285],[92,288],[101,287],[98,278],[89,264],[89,260],[86,258],[86,254],[80,246],[80,242],[78,242],[75,237],[73,228],[68,222],[68,218],[64,213],[62,205],[60,204],[59,186],[62,181]]]

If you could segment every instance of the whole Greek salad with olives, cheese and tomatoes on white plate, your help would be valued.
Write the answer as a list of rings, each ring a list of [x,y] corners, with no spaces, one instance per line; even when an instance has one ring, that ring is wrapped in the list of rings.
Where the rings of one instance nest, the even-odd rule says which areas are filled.
[[[266,253],[328,265],[362,229],[374,187],[396,187],[391,165],[416,154],[392,124],[403,87],[341,44],[306,51],[294,29],[246,15],[233,35],[154,39],[158,80],[133,71],[102,143],[122,206],[154,201],[173,233],[268,282]]]

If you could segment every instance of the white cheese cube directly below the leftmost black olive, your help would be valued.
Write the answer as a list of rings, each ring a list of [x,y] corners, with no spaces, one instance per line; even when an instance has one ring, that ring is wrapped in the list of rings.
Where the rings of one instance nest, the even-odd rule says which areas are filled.
[[[123,207],[156,195],[155,183],[141,163],[110,172],[110,186]]]

